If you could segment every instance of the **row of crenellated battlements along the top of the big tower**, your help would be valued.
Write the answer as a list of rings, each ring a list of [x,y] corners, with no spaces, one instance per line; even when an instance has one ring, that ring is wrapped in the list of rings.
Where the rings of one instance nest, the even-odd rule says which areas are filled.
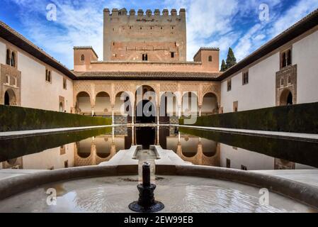
[[[176,11],[176,9],[171,9],[170,13],[168,9],[164,9],[162,12],[159,9],[155,9],[154,12],[152,12],[151,9],[147,9],[146,11],[142,9],[138,9],[137,12],[135,9],[130,9],[128,12],[127,9],[113,9],[110,11],[109,9],[104,9],[104,14],[106,16],[142,16],[142,17],[155,17],[155,16],[186,16],[186,9],[180,9],[179,13]]]

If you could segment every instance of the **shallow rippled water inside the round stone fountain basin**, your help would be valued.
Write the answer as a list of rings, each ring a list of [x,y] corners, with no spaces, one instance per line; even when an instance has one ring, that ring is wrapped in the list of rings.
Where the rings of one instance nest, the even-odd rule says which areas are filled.
[[[0,212],[132,212],[138,198],[137,176],[94,177],[55,182],[0,201]],[[155,197],[161,212],[317,212],[285,196],[269,192],[260,204],[259,187],[203,177],[158,175]],[[47,205],[47,189],[57,192],[56,206]]]

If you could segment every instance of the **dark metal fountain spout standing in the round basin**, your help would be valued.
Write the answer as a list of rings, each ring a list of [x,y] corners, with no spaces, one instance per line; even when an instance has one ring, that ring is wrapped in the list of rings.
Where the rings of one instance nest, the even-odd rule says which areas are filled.
[[[144,162],[142,165],[142,184],[137,186],[139,200],[132,202],[129,209],[139,213],[154,213],[164,209],[164,204],[154,200],[155,184],[150,182],[150,164]]]

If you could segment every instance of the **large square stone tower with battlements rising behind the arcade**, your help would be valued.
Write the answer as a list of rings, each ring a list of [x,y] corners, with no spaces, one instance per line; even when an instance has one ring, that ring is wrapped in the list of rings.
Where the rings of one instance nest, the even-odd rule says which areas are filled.
[[[104,9],[103,60],[186,62],[186,10]]]

